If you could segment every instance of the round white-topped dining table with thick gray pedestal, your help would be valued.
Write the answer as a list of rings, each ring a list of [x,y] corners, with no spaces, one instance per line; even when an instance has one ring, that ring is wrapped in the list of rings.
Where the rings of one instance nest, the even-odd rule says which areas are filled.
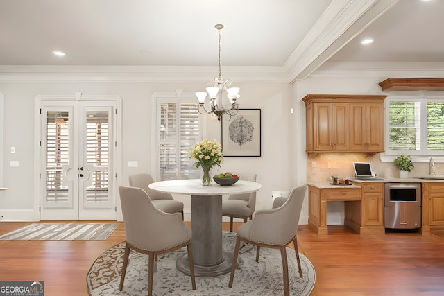
[[[232,254],[222,251],[222,195],[251,193],[261,187],[259,183],[243,180],[231,186],[216,183],[203,186],[199,179],[149,184],[154,191],[191,195],[191,245],[196,277],[216,277],[231,270]],[[178,259],[176,267],[190,275],[188,256]]]

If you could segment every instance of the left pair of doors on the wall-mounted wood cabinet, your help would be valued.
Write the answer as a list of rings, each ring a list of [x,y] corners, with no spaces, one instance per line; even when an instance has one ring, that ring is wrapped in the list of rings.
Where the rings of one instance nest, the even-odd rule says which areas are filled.
[[[314,150],[348,150],[349,104],[314,103],[313,107]]]

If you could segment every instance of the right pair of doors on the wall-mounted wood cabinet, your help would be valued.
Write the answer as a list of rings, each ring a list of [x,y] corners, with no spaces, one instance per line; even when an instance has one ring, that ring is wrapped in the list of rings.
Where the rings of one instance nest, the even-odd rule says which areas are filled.
[[[350,150],[384,150],[384,106],[350,104]]]

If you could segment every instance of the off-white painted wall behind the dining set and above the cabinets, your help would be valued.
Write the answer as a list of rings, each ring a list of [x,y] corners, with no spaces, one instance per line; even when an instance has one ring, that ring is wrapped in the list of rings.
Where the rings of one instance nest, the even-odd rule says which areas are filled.
[[[262,157],[225,157],[221,171],[257,173],[262,190],[257,193],[257,209],[271,207],[272,191],[288,191],[307,182],[307,154],[305,153],[305,104],[306,94],[382,94],[379,82],[389,77],[443,77],[443,69],[413,71],[401,69],[376,71],[373,64],[326,64],[305,80],[293,85],[286,82],[235,82],[241,87],[241,108],[262,110]],[[359,69],[361,67],[361,69]],[[363,70],[364,69],[364,70]],[[370,69],[370,70],[365,70]],[[38,74],[36,74],[38,75]],[[73,76],[74,77],[74,76]],[[236,81],[234,77],[231,77]],[[202,82],[115,82],[107,79],[62,78],[44,79],[3,78],[0,92],[4,94],[3,137],[3,186],[8,191],[0,193],[0,216],[3,220],[32,220],[35,204],[33,192],[34,173],[34,100],[37,95],[119,95],[123,100],[123,185],[128,185],[128,175],[148,171],[154,173],[153,137],[151,130],[151,94],[154,92],[196,92],[205,86]],[[20,82],[17,82],[20,81]],[[39,82],[40,81],[40,82]],[[105,81],[105,82],[103,82]],[[126,81],[131,81],[128,78]],[[293,114],[290,114],[293,108]],[[217,121],[208,121],[206,137],[221,139]],[[0,132],[1,134],[1,132]],[[142,137],[140,137],[142,134]],[[14,146],[16,153],[10,153]],[[10,167],[10,161],[19,161],[19,167]],[[136,160],[139,167],[128,167]],[[1,181],[1,180],[0,180]],[[185,201],[189,214],[189,198]],[[307,223],[307,199],[300,218]],[[341,204],[327,209],[328,224],[341,224]]]

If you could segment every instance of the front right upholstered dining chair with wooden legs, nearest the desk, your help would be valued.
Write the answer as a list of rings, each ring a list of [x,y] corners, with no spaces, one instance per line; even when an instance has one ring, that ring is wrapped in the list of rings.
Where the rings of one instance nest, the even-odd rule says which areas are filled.
[[[256,262],[259,263],[260,247],[271,247],[280,250],[282,256],[282,274],[284,277],[284,295],[290,294],[289,271],[286,246],[293,241],[298,261],[299,276],[302,277],[302,268],[298,252],[298,232],[300,211],[304,202],[307,184],[298,186],[291,191],[282,206],[275,209],[262,209],[256,212],[253,220],[244,223],[237,229],[236,246],[234,247],[233,265],[228,286],[233,284],[234,271],[237,265],[237,256],[241,241],[257,245]]]

